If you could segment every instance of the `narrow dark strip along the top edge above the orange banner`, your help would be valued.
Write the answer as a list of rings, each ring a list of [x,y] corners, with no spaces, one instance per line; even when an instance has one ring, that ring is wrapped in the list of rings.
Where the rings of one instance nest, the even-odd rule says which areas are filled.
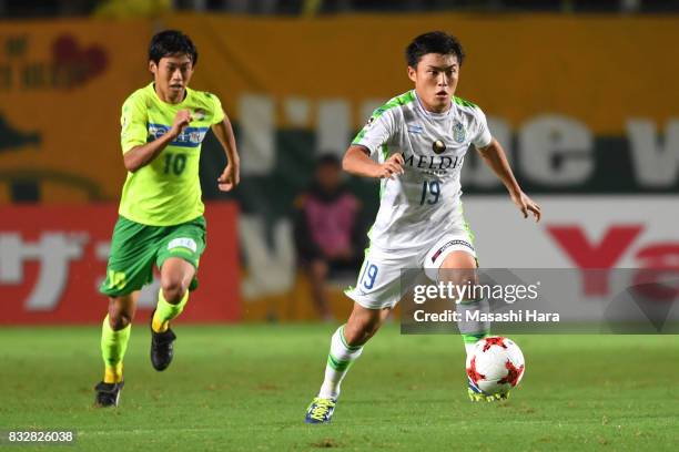
[[[169,11],[306,16],[476,11],[491,13],[676,13],[679,0],[0,0],[0,19],[74,17],[155,18]]]

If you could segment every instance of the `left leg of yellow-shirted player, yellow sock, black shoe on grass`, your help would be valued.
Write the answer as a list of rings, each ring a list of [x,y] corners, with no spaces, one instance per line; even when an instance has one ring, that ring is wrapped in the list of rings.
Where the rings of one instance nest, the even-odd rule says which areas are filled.
[[[124,384],[123,358],[130,340],[138,298],[139,291],[109,298],[109,314],[101,326],[104,377],[95,388],[95,403],[100,407],[118,405],[120,390]]]

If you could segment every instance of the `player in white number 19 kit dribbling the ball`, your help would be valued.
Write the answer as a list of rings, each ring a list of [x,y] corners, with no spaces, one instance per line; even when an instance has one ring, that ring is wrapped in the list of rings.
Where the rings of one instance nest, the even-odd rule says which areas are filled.
[[[540,207],[519,187],[482,110],[454,95],[464,60],[459,41],[440,31],[422,34],[406,48],[406,60],[415,89],[375,110],[342,162],[351,174],[382,179],[379,212],[356,287],[346,291],[354,309],[332,337],[325,380],[307,408],[307,423],[331,420],[348,368],[401,299],[402,269],[425,268],[435,277],[458,269],[456,275],[474,278],[473,271],[465,273],[477,263],[459,183],[470,144],[524,217],[540,218]],[[463,335],[467,350],[487,333],[480,328]],[[469,396],[486,400],[472,388]]]

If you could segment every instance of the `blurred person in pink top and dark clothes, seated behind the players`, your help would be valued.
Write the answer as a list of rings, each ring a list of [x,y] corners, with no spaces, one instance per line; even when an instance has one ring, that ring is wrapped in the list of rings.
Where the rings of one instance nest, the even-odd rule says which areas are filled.
[[[297,196],[294,207],[298,263],[308,277],[318,315],[332,320],[326,280],[341,271],[356,273],[365,245],[361,202],[342,182],[335,155],[318,158],[314,182]]]

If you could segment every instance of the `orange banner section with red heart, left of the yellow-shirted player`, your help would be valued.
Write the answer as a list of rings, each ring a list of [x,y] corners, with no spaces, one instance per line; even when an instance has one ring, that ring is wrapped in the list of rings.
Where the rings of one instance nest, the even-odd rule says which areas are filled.
[[[150,81],[150,38],[145,21],[2,24],[0,203],[21,181],[47,203],[118,197],[120,107]]]

